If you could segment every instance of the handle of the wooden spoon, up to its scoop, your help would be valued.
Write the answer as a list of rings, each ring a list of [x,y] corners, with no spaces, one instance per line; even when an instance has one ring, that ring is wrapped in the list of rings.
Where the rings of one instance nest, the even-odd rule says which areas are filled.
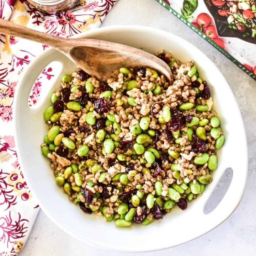
[[[6,21],[0,18],[0,33],[9,34],[10,36],[20,37],[34,42],[47,44],[54,48],[58,48],[60,44],[64,44],[66,41],[63,38],[52,36],[43,32],[32,30],[21,25],[17,25],[10,21]]]

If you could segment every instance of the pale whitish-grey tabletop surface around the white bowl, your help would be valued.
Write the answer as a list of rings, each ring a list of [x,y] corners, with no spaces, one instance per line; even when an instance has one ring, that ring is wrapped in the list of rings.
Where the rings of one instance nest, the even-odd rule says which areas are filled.
[[[175,16],[171,15],[155,0],[119,0],[102,24],[102,26],[111,25],[143,25],[159,28],[177,34],[201,49],[222,71],[233,90],[244,118],[249,149],[249,176],[246,191],[239,207],[228,220],[208,234],[187,242],[186,244],[164,251],[135,255],[255,255],[256,82],[226,59],[221,53],[211,47],[204,39],[193,33],[190,28],[184,25]],[[238,155],[234,157],[239,157],[239,150]],[[154,238],[152,238],[151,241],[154,242]],[[101,250],[83,244],[59,229],[46,214],[40,210],[20,256],[45,255],[128,256],[132,254]]]

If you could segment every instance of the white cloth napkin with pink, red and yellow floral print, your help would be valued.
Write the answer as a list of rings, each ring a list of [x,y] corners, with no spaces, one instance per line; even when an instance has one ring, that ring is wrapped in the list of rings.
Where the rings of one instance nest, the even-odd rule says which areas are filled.
[[[44,14],[25,0],[0,0],[0,18],[59,37],[97,28],[117,0],[80,0],[78,6],[59,15]],[[15,87],[27,65],[47,45],[0,35],[0,256],[15,256],[22,249],[39,206],[23,178],[15,143],[12,107]],[[37,102],[43,80],[52,79],[47,66],[30,95]]]

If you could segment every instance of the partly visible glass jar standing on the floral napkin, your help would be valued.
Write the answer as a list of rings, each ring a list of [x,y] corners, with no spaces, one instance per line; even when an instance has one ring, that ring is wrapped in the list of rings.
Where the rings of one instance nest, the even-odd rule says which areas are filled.
[[[62,11],[67,11],[77,5],[79,0],[27,0],[39,11],[48,14],[55,14]]]

